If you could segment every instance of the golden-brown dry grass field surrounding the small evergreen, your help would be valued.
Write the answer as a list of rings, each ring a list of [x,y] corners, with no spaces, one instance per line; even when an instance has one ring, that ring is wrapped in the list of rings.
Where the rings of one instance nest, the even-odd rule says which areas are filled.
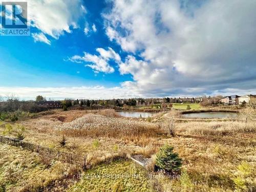
[[[113,185],[110,186],[107,179],[97,180],[100,183],[105,182],[105,184],[100,185],[101,187],[108,186],[105,187],[105,191],[256,190],[255,121],[244,122],[238,119],[237,121],[179,122],[174,119],[172,125],[175,134],[170,136],[169,119],[159,119],[165,120],[148,122],[146,119],[123,118],[113,111],[63,112],[56,110],[40,113],[35,118],[18,121],[16,124],[25,127],[24,135],[26,141],[60,151],[87,156],[88,168],[90,169],[87,172],[81,172],[82,175],[88,172],[98,173],[98,170],[99,173],[119,173],[118,168],[113,168],[120,167],[119,163],[124,163],[124,166],[127,165],[129,167],[127,170],[130,173],[137,171],[142,173],[142,170],[131,166],[131,162],[126,164],[129,161],[125,157],[127,155],[142,154],[145,157],[152,157],[154,162],[155,154],[166,143],[172,145],[175,152],[183,160],[180,179],[167,179],[161,177],[161,174],[155,173],[154,177],[147,178],[145,182],[145,178],[142,177],[140,182],[144,183],[148,190],[143,190],[145,185],[139,185],[132,179],[127,180],[127,182],[125,180],[113,181],[113,185],[122,186],[122,190],[117,190],[119,187],[113,188]],[[13,131],[15,129],[6,130],[7,124],[7,122],[1,123],[0,132],[8,136],[15,136],[15,131]],[[14,127],[15,124],[11,124],[11,126]],[[59,145],[62,135],[67,138],[65,147]],[[8,146],[1,145],[1,147],[6,148]],[[60,162],[55,162],[49,168],[45,168],[44,163],[39,161],[36,165],[29,165],[30,162],[33,164],[33,161],[37,161],[38,157],[19,148],[12,147],[12,150],[15,151],[15,155],[23,157],[24,161],[26,161],[26,166],[35,166],[32,167],[33,170],[31,169],[32,173],[36,172],[34,169],[37,169],[37,167],[41,172],[54,173],[51,172],[51,169],[55,169],[60,164]],[[10,164],[6,163],[4,165],[3,161],[6,161],[7,158],[14,158],[12,156],[11,154],[6,154],[4,158],[2,156],[0,158],[1,167],[5,167],[0,169],[1,181],[7,181],[4,175],[8,173],[7,164]],[[12,161],[8,160],[6,162]],[[115,164],[116,161],[117,164]],[[21,166],[16,165],[15,168],[22,169]],[[148,171],[150,170],[152,170],[151,166],[148,167]],[[29,170],[26,173],[29,173]],[[24,174],[26,175],[26,173]],[[96,180],[86,181],[83,176],[77,184],[74,184],[76,181],[73,179],[64,182],[68,183],[67,187],[67,184],[61,182],[63,180],[61,174],[58,174],[58,176],[50,175],[51,181],[42,182],[43,189],[49,188],[49,186],[52,186],[52,182],[56,181],[58,183],[56,185],[59,185],[59,188],[65,188],[65,190],[69,191],[103,191],[96,187]],[[30,181],[30,178],[34,177],[27,174],[26,177],[18,179],[16,183]],[[2,185],[7,185],[6,191],[11,191],[10,186],[12,185],[9,183]],[[40,182],[38,185],[41,185]],[[130,185],[136,186],[137,189],[129,190]],[[15,184],[15,187],[18,186],[20,184]],[[58,188],[55,185],[54,187]],[[65,190],[63,189],[63,191]]]

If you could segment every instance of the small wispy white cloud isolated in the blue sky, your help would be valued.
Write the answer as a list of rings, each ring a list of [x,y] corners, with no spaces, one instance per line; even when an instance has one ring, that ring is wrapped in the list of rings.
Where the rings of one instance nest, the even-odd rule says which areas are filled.
[[[108,61],[112,59],[116,63],[119,63],[121,61],[120,56],[110,47],[108,50],[97,48],[96,51],[99,53],[99,55],[92,55],[84,52],[84,56],[74,55],[73,57],[69,58],[69,60],[77,63],[92,63],[87,64],[86,67],[92,68],[95,73],[113,73],[115,70],[110,66]]]

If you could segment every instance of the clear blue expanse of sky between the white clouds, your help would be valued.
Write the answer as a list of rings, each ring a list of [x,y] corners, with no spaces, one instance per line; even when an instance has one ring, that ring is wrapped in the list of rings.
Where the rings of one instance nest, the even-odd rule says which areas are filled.
[[[65,32],[58,39],[49,38],[51,45],[34,42],[31,36],[2,36],[0,41],[2,86],[17,87],[65,87],[65,86],[119,86],[121,81],[131,80],[130,75],[119,75],[118,71],[105,75],[95,74],[84,65],[68,61],[68,57],[83,52],[96,53],[96,48],[116,48],[104,33],[102,11],[106,8],[103,1],[87,1],[87,14],[80,18],[79,29]],[[85,22],[93,24],[97,31],[86,36],[83,32]],[[31,33],[40,30],[32,27]],[[121,53],[121,52],[120,52]]]

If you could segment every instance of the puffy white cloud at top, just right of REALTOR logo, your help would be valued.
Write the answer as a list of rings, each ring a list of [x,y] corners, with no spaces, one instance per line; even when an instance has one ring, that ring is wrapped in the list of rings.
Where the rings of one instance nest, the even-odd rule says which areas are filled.
[[[56,39],[64,32],[71,33],[70,27],[78,28],[78,18],[87,13],[81,0],[27,0],[27,2],[30,25]]]

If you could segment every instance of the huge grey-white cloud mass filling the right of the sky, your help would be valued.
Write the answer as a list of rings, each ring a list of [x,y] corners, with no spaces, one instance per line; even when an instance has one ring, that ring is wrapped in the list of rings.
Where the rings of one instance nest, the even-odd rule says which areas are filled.
[[[210,0],[184,8],[180,3],[113,0],[104,14],[106,35],[142,58],[129,55],[119,64],[121,74],[134,78],[123,85],[166,94],[253,88],[256,1]]]

